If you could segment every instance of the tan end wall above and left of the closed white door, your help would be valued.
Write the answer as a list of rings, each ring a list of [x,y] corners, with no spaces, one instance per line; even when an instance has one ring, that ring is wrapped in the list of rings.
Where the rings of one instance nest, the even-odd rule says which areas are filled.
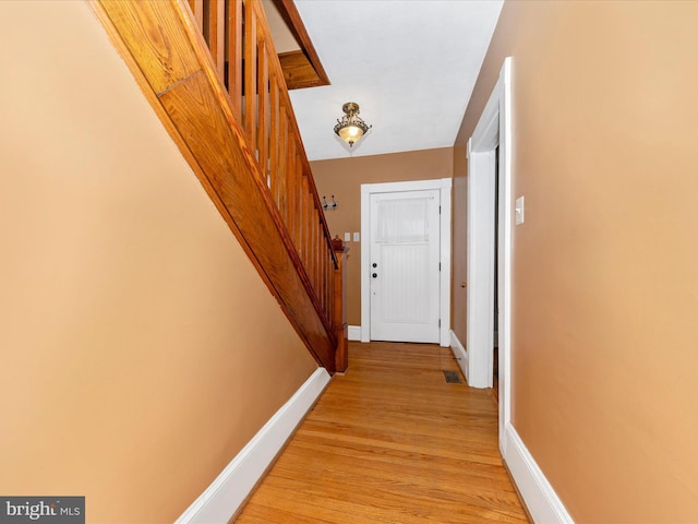
[[[365,140],[371,140],[368,136]],[[317,192],[339,203],[337,210],[325,213],[333,235],[344,239],[345,233],[361,231],[361,184],[450,178],[450,147],[412,151],[388,155],[357,156],[311,163]],[[361,242],[348,242],[347,255],[347,322],[361,325]]]

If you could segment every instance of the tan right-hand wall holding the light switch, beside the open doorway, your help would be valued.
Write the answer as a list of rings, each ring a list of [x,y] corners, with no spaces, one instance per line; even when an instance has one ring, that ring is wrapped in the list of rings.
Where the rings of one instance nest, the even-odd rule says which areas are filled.
[[[459,134],[512,56],[513,418],[576,522],[698,521],[696,20],[507,1]]]

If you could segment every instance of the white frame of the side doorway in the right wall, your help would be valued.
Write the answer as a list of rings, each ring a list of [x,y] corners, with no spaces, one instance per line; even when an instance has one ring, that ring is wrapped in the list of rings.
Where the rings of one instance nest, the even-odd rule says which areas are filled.
[[[468,384],[491,388],[494,331],[494,176],[500,146],[498,349],[500,448],[512,417],[512,58],[506,58],[468,141]]]

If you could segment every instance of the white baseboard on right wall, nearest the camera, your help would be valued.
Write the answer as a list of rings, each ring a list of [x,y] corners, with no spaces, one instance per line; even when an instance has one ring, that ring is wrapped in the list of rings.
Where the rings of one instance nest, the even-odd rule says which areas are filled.
[[[526,502],[533,522],[541,524],[574,524],[557,493],[550,485],[524,441],[507,424],[504,442],[504,460],[516,486]]]

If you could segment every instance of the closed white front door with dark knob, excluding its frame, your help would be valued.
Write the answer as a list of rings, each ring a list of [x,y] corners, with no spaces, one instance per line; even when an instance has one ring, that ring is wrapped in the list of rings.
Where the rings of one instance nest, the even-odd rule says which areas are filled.
[[[440,342],[441,191],[371,194],[371,340]]]

